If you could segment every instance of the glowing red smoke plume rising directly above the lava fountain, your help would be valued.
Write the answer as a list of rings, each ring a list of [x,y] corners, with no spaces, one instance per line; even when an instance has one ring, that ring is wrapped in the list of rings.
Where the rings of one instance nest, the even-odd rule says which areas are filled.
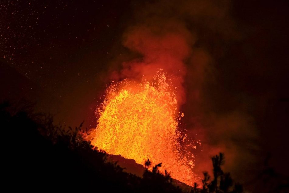
[[[141,54],[141,58],[123,62],[121,72],[113,73],[112,78],[152,81],[157,69],[163,69],[176,89],[179,107],[185,102],[184,60],[191,53],[192,42],[193,37],[183,24],[173,21],[131,27],[124,35],[123,44]]]

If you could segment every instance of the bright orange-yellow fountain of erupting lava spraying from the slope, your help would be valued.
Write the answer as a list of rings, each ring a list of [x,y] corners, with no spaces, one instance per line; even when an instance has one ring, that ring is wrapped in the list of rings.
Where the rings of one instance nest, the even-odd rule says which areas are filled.
[[[90,134],[92,145],[140,164],[148,158],[153,164],[162,162],[162,172],[166,169],[173,178],[192,185],[193,155],[180,152],[185,137],[178,131],[178,120],[183,113],[176,112],[176,95],[165,74],[158,72],[153,82],[124,80],[106,92],[97,111],[97,128]]]

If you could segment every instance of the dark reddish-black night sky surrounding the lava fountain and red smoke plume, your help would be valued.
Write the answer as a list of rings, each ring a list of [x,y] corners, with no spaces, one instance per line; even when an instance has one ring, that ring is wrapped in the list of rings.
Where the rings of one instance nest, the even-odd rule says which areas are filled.
[[[127,29],[173,20],[195,37],[181,107],[191,136],[205,153],[225,151],[242,182],[267,153],[288,175],[288,12],[287,1],[2,0],[1,99],[25,97],[57,121],[93,127],[113,71],[141,57],[123,45]]]

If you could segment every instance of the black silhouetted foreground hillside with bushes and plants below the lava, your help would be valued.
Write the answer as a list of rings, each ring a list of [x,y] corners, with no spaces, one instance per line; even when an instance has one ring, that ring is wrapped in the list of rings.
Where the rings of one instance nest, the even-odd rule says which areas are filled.
[[[53,116],[35,114],[33,104],[13,108],[0,104],[2,129],[2,175],[4,187],[29,191],[101,191],[101,192],[182,192],[173,185],[165,170],[145,161],[142,177],[124,172],[117,163],[107,160],[106,152],[83,139],[89,132],[79,127],[53,124]],[[242,193],[230,173],[221,169],[224,154],[212,158],[214,179],[204,172],[202,186],[197,183],[191,193]]]

